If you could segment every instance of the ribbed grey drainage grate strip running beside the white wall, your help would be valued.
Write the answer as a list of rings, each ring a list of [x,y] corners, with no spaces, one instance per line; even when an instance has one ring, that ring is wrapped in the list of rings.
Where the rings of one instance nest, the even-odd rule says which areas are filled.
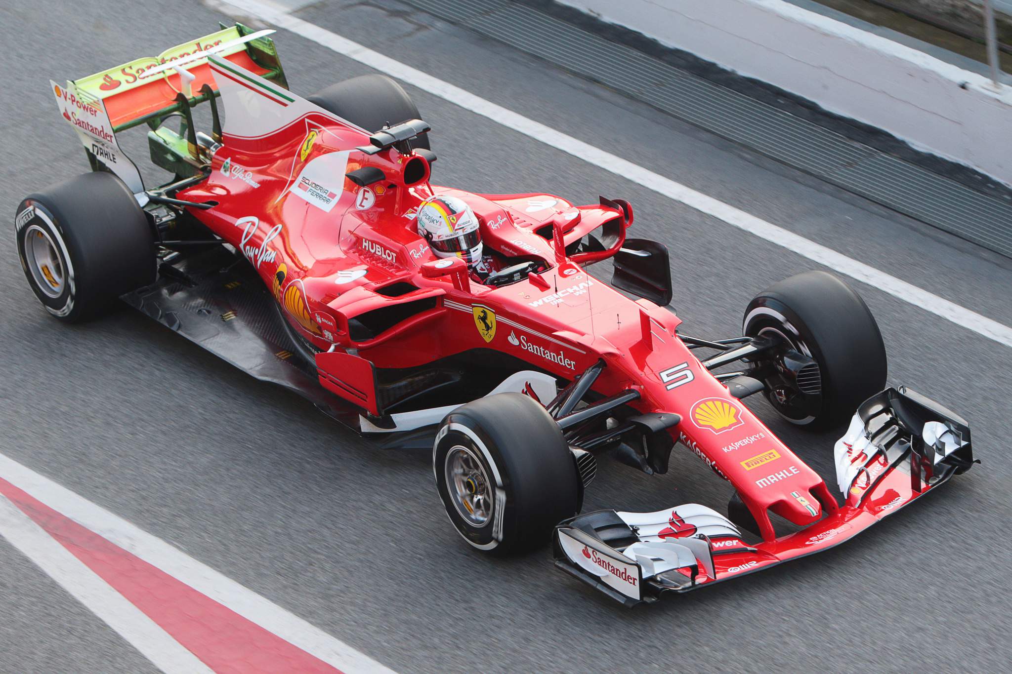
[[[524,5],[507,0],[404,1],[1012,258],[1012,203]]]

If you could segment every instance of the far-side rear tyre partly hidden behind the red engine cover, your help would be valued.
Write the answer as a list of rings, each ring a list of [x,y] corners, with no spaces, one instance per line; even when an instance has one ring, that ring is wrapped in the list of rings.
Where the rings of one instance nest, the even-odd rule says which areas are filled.
[[[387,124],[421,119],[408,92],[386,75],[362,75],[338,82],[313,94],[309,100],[370,133]],[[429,150],[428,134],[414,138],[411,147]]]

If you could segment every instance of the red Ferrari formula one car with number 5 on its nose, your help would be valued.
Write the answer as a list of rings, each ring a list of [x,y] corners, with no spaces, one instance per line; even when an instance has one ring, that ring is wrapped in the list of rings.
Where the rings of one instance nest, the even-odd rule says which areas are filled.
[[[365,76],[301,98],[267,32],[224,28],[53,84],[95,170],[17,210],[53,315],[121,298],[385,447],[433,448],[470,546],[551,540],[561,569],[627,604],[826,550],[973,465],[964,420],[886,388],[878,327],[839,279],[774,284],[743,336],[688,336],[666,308],[667,250],[626,238],[626,202],[435,186],[429,126],[399,85]],[[203,101],[209,133],[191,112]],[[157,189],[116,141],[143,123],[173,174]],[[482,272],[419,233],[436,196],[476,214]],[[608,258],[610,283],[588,271]],[[755,394],[796,424],[853,415],[836,484],[750,411]],[[678,443],[734,486],[727,508],[580,514],[598,457],[664,474]]]

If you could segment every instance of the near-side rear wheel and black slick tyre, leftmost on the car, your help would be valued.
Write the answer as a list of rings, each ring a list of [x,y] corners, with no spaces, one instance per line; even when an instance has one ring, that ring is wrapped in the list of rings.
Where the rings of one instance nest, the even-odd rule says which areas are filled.
[[[151,224],[110,173],[84,174],[28,195],[14,229],[28,285],[60,320],[95,316],[155,280]]]

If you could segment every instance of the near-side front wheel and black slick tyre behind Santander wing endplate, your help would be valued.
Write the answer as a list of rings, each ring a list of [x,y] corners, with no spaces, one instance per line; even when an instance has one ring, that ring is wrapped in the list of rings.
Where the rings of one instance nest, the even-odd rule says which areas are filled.
[[[579,508],[576,465],[544,408],[500,393],[450,412],[432,453],[446,514],[473,548],[505,555],[547,544]]]

